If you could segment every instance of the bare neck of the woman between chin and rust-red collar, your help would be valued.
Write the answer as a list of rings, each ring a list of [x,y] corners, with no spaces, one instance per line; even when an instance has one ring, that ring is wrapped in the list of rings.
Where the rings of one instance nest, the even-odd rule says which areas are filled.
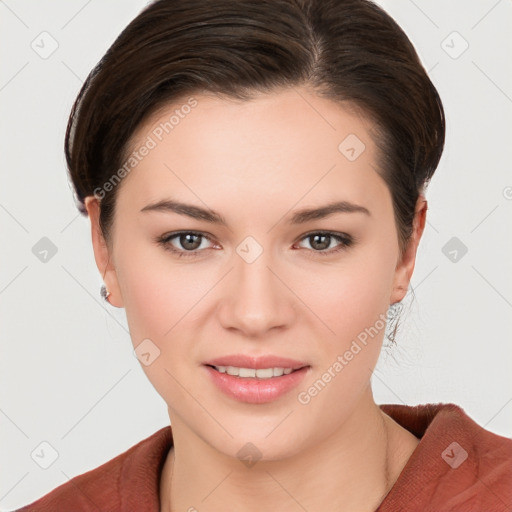
[[[320,444],[252,467],[205,445],[179,420],[172,425],[174,449],[162,473],[162,511],[220,512],[226,503],[243,512],[375,511],[419,442],[373,399],[361,401]]]

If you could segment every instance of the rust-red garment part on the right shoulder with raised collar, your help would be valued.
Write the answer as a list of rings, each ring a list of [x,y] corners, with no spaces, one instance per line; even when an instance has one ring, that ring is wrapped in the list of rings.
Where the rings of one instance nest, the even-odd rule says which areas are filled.
[[[380,407],[420,443],[379,512],[511,509],[512,439],[486,430],[452,403]]]

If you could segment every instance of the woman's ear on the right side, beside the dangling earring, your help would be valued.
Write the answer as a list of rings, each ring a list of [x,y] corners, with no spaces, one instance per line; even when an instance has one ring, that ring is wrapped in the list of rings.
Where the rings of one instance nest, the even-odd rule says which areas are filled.
[[[427,200],[423,194],[420,194],[418,201],[416,202],[411,238],[409,239],[407,247],[400,257],[395,269],[393,291],[389,298],[390,304],[400,302],[405,297],[409,288],[409,283],[414,271],[414,265],[416,263],[416,251],[418,249],[423,230],[425,229],[427,209]]]

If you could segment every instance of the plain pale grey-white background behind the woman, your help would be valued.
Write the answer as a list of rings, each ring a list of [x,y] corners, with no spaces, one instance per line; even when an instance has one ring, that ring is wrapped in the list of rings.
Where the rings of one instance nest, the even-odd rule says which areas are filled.
[[[398,346],[383,349],[375,398],[454,402],[510,437],[512,2],[379,3],[438,87],[447,147],[427,193],[415,298],[405,301]],[[0,1],[1,510],[33,501],[169,422],[133,356],[124,310],[99,296],[89,221],[73,203],[63,155],[83,80],[144,5]]]

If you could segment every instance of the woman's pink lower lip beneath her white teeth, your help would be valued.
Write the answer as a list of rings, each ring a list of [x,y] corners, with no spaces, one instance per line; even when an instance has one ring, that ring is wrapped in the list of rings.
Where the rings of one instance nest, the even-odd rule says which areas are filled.
[[[305,366],[281,377],[258,379],[256,377],[236,377],[235,375],[220,373],[211,366],[205,366],[205,368],[208,370],[214,384],[222,392],[239,402],[249,404],[264,404],[276,400],[297,387],[309,370],[309,366]]]

